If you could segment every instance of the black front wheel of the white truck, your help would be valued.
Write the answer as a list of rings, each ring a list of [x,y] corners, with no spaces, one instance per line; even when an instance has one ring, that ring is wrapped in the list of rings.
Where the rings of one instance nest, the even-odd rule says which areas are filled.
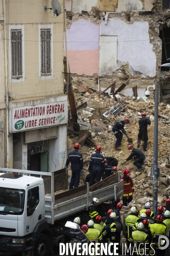
[[[50,241],[48,236],[41,234],[37,239],[34,255],[35,256],[48,256],[50,250]]]

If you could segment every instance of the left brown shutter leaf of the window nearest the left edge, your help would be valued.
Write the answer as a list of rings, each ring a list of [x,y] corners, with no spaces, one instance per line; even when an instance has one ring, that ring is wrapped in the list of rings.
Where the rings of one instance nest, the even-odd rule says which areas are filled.
[[[17,77],[17,31],[11,31],[11,76]]]

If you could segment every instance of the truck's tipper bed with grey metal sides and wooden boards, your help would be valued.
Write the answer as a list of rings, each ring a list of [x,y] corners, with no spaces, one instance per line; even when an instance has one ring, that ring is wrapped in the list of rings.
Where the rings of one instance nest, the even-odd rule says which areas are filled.
[[[19,169],[0,168],[0,172],[17,172],[22,175],[41,177],[45,186],[45,219],[49,224],[54,221],[68,217],[74,213],[88,210],[94,197],[100,203],[104,203],[113,198],[119,198],[123,194],[123,180],[120,181],[120,172],[111,175],[105,180],[89,187],[89,184],[79,186],[57,195],[55,192],[67,189],[67,170],[61,169],[55,172],[37,172]]]

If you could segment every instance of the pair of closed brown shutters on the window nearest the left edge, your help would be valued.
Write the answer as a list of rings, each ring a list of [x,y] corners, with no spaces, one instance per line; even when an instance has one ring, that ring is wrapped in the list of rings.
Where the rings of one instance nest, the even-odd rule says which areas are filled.
[[[11,30],[11,78],[23,77],[22,30]]]

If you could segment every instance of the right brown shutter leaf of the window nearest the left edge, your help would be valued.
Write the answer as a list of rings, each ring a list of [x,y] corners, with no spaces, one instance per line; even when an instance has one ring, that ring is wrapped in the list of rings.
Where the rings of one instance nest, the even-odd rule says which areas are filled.
[[[23,76],[22,64],[22,31],[17,31],[17,76]]]

